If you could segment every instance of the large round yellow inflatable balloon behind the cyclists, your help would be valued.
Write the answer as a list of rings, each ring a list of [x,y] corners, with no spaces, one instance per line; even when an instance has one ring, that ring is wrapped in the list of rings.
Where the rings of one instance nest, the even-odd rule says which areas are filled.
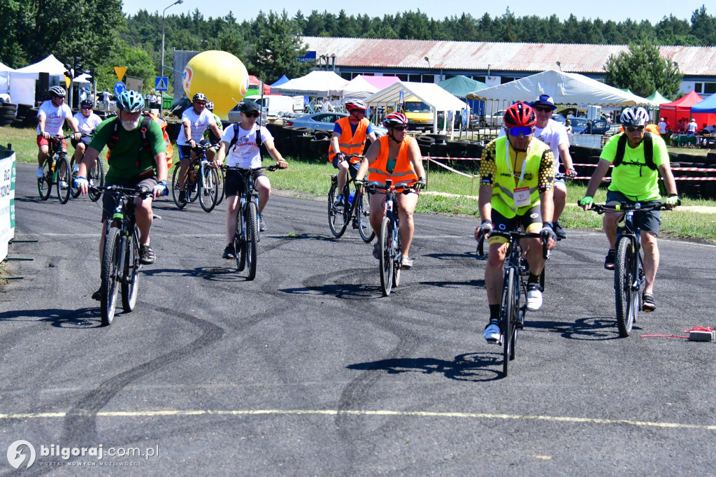
[[[209,50],[189,60],[182,85],[189,99],[203,92],[214,103],[214,114],[228,120],[228,112],[246,96],[248,72],[233,54]]]

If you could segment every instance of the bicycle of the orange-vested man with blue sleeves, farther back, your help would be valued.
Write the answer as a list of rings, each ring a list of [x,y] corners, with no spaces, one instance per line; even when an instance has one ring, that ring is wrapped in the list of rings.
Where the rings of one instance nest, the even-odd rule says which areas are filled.
[[[349,154],[345,160],[350,158],[363,158],[359,154]],[[331,188],[328,191],[328,226],[334,237],[339,238],[346,231],[349,223],[353,228],[358,229],[361,238],[369,244],[375,237],[375,232],[370,226],[370,201],[369,195],[362,188],[354,188],[351,191],[353,178],[347,180],[343,188],[343,202],[336,203],[338,192],[338,175],[331,176]]]

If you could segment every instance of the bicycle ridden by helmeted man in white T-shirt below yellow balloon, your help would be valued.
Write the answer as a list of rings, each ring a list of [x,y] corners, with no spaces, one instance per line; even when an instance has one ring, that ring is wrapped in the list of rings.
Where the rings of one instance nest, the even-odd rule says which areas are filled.
[[[218,149],[220,145],[198,144],[193,150],[197,157],[190,163],[186,181],[184,183],[184,191],[186,200],[194,202],[199,199],[201,208],[206,212],[213,211],[218,203],[218,184],[219,177],[215,168],[211,167],[211,163],[206,158],[206,151],[209,149]],[[184,208],[186,202],[179,200],[179,175],[181,163],[177,163],[174,167],[172,175],[172,198],[178,208]]]

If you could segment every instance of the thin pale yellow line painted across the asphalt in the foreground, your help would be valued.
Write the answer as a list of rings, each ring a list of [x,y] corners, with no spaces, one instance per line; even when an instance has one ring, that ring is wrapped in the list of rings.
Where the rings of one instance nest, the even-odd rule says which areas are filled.
[[[71,415],[84,416],[84,413],[16,413],[0,414],[0,419],[57,419],[67,418]],[[394,410],[145,410],[145,411],[102,411],[95,414],[98,418],[151,418],[161,416],[193,416],[193,415],[363,415],[363,416],[403,416],[421,418],[463,418],[463,419],[493,419],[493,420],[543,420],[557,423],[571,424],[601,424],[601,425],[635,425],[652,428],[672,429],[701,429],[716,430],[716,425],[683,424],[683,423],[655,423],[642,420],[629,419],[598,419],[598,418],[571,418],[569,416],[549,415],[518,415],[518,414],[485,414],[485,413],[438,413],[430,411],[394,411]]]

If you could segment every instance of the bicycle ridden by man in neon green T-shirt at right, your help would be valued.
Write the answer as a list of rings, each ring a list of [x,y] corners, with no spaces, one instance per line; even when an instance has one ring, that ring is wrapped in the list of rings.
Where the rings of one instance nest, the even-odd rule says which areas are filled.
[[[619,336],[626,338],[632,333],[634,322],[642,309],[642,291],[646,278],[644,276],[644,256],[642,254],[642,237],[639,227],[634,224],[634,212],[666,211],[664,204],[657,201],[647,203],[618,203],[614,205],[593,204],[592,211],[624,212],[619,222],[623,226],[616,228],[616,258],[614,259],[614,299],[616,302],[616,326]]]

